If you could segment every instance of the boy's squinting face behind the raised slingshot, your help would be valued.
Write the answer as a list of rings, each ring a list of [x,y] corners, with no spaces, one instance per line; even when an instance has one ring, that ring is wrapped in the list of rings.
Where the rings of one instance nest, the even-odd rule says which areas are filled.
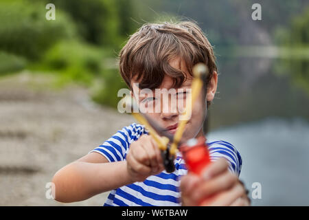
[[[166,131],[174,134],[176,128],[181,120],[181,113],[184,112],[186,106],[187,97],[190,96],[192,76],[187,71],[187,67],[180,59],[174,59],[170,62],[170,65],[175,69],[181,69],[187,74],[186,80],[181,87],[173,88],[173,80],[170,76],[163,78],[163,81],[159,88],[150,91],[150,89],[139,89],[136,85],[138,83],[135,80],[131,80],[135,100],[139,103],[139,108],[144,111],[152,120],[155,120]],[[214,99],[217,87],[217,74],[214,72],[214,76],[208,85],[207,100]],[[146,91],[146,92],[145,92]],[[203,135],[203,122],[207,113],[207,104],[204,93],[201,92],[192,106],[191,118],[185,125],[185,131],[183,133],[182,141],[187,141],[192,137],[200,137]]]

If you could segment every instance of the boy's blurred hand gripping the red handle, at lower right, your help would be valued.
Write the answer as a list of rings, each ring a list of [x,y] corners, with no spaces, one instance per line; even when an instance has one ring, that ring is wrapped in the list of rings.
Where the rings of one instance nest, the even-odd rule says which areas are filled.
[[[185,175],[180,187],[183,206],[249,206],[244,185],[228,166],[227,160],[220,158],[207,166],[203,177]]]

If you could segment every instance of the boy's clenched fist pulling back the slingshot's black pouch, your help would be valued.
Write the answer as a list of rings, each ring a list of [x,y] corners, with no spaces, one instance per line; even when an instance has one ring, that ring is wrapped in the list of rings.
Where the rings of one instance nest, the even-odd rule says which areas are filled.
[[[126,155],[128,174],[133,182],[144,181],[150,175],[164,170],[161,151],[150,135],[141,135]]]

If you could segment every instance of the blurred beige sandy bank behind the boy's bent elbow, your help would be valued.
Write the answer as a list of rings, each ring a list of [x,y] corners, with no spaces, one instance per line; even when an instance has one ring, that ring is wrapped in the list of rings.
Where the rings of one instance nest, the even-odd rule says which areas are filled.
[[[0,78],[0,206],[102,206],[108,192],[58,203],[46,186],[133,118],[94,104],[85,89],[48,82],[27,72]]]

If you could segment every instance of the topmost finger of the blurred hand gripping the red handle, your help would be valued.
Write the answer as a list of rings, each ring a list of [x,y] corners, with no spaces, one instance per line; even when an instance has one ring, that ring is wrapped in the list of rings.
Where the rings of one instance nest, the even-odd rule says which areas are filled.
[[[212,177],[215,177],[216,175],[220,175],[220,173],[225,172],[229,168],[229,162],[227,162],[227,159],[221,157],[216,162],[213,162],[209,164],[203,170],[203,178],[205,180],[211,179]]]

